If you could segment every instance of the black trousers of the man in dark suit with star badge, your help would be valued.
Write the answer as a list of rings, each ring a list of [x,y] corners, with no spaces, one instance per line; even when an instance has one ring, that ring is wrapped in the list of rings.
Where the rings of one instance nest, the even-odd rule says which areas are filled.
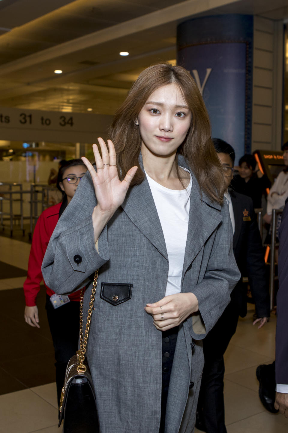
[[[227,433],[224,410],[223,355],[234,335],[239,318],[237,305],[231,301],[214,328],[203,340],[205,364],[197,405],[199,421],[207,433]]]

